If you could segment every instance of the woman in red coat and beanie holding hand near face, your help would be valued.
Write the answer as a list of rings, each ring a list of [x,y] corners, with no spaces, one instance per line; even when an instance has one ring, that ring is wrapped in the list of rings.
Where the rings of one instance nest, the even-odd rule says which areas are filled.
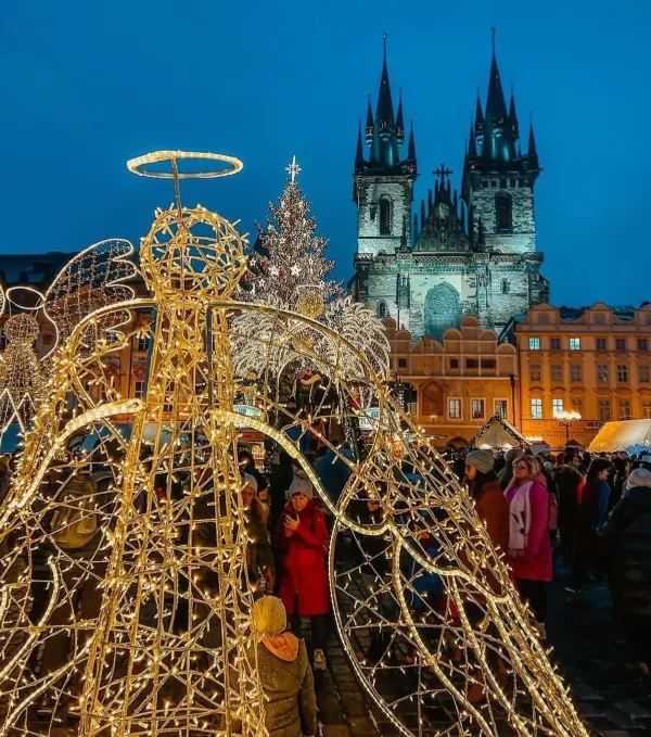
[[[328,528],[314,493],[306,479],[292,481],[290,503],[276,530],[276,549],[281,560],[278,595],[297,636],[301,636],[301,618],[310,618],[314,669],[324,671],[330,612],[326,563]]]

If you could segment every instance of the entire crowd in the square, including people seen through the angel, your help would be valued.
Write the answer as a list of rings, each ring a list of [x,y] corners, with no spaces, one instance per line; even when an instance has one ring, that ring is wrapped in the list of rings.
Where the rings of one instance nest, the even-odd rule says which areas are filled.
[[[336,503],[350,474],[347,461],[354,458],[352,448],[345,443],[336,443],[336,449],[321,445],[308,458],[326,494]],[[256,647],[258,662],[264,664],[263,686],[270,697],[268,728],[270,734],[284,737],[314,734],[312,672],[318,684],[319,673],[328,666],[331,628],[331,520],[306,473],[289,456],[281,454],[260,470],[251,450],[242,447],[238,460],[247,579],[256,600]],[[547,588],[554,575],[554,560],[564,560],[571,568],[571,596],[580,596],[593,580],[608,579],[615,615],[630,646],[630,665],[649,674],[651,456],[629,458],[617,453],[591,457],[571,447],[559,456],[534,456],[526,448],[506,454],[471,449],[456,454],[451,462],[490,539],[503,551],[540,637],[546,638]],[[0,458],[0,500],[10,485],[11,467],[9,459]],[[87,478],[73,481],[81,492],[91,483]],[[76,486],[68,483],[66,488],[72,494]],[[381,496],[382,490],[378,492]],[[359,504],[365,524],[381,523],[384,512],[378,498],[360,499]],[[97,525],[89,528],[87,518],[84,524],[68,522],[62,525],[67,536],[58,538],[62,548],[87,545],[97,531]],[[432,541],[432,545],[435,543]],[[368,545],[360,556],[362,584],[368,583],[365,575],[369,581],[378,575],[376,564],[368,561],[385,558],[386,543],[382,537],[369,537]],[[442,593],[441,581],[435,577],[425,582],[423,576],[421,581],[421,589],[412,595],[416,608],[419,601]],[[394,606],[390,599],[378,598],[378,608],[387,620]],[[306,647],[302,634],[307,621],[310,633]],[[369,662],[379,661],[387,647],[386,631],[371,635]],[[43,666],[48,665],[48,656],[49,651],[43,655]],[[476,694],[469,692],[471,701],[483,698],[481,687],[475,690]]]

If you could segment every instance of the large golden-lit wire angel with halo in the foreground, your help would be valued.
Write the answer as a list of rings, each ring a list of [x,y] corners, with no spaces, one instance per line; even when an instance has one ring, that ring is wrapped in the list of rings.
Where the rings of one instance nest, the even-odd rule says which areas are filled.
[[[157,211],[141,244],[153,297],[95,310],[75,329],[0,514],[0,737],[63,724],[79,737],[266,734],[239,494],[242,427],[290,454],[334,516],[339,636],[396,727],[587,737],[468,493],[366,356],[312,318],[232,298],[246,270],[243,239],[219,215],[181,206],[187,157],[241,167],[182,152],[130,162],[177,183],[176,205]],[[151,168],[162,162],[171,173]],[[146,392],[123,398],[103,364],[131,340],[128,314],[148,310]],[[352,384],[374,394],[373,427],[354,460],[341,456],[350,478],[339,500],[301,453],[310,421],[270,383],[247,387],[256,417],[235,411],[244,380],[232,331],[243,313],[273,319],[278,343],[297,323],[328,341],[319,365],[339,401],[315,407],[323,422],[354,421]],[[288,351],[305,361],[314,342]],[[343,356],[358,367],[352,379]],[[436,597],[424,586],[432,581]],[[482,698],[471,698],[477,688]]]

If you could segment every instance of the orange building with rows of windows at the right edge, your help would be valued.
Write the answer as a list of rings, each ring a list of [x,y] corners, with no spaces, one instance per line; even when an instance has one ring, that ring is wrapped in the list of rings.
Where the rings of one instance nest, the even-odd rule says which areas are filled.
[[[587,446],[609,420],[651,418],[651,304],[537,305],[513,320],[511,335],[520,369],[515,425],[525,437]],[[557,419],[567,412],[580,419]]]

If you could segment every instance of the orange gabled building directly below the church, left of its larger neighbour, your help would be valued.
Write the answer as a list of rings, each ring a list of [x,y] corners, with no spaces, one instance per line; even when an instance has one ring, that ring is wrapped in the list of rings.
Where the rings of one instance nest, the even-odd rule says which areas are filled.
[[[493,416],[510,422],[518,417],[518,355],[510,343],[498,343],[493,330],[475,317],[461,318],[441,342],[411,341],[408,330],[384,320],[392,347],[392,368],[414,390],[411,414],[438,447],[467,445]]]

